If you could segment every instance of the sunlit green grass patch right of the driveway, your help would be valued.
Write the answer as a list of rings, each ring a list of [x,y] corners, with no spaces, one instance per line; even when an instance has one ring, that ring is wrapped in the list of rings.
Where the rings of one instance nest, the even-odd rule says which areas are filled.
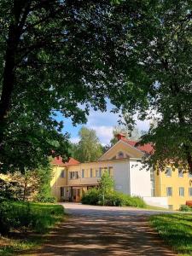
[[[173,213],[150,217],[152,226],[179,255],[192,255],[192,214]]]

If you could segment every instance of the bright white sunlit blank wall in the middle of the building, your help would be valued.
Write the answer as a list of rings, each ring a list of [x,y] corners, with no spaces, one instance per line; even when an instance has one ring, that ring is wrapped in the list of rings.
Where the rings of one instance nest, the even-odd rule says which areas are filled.
[[[150,171],[137,160],[130,160],[131,195],[151,196]]]

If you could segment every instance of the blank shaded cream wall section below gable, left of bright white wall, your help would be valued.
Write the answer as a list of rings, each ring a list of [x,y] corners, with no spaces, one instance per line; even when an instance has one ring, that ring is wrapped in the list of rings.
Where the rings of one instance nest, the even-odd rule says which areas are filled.
[[[114,189],[130,195],[129,160],[113,163]]]

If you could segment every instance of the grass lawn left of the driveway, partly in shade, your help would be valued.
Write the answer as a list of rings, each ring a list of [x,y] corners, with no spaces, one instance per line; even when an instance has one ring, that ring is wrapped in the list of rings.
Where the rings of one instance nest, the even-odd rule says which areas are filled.
[[[18,229],[11,230],[10,236],[0,238],[0,255],[20,255],[26,250],[41,245],[44,234],[63,219],[63,207],[54,204],[10,202],[15,209],[15,219],[20,221]],[[28,219],[26,213],[29,214]]]

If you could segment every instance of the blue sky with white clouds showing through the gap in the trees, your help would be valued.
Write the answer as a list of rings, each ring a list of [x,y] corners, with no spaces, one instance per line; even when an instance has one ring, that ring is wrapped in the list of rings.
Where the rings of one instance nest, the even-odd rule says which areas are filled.
[[[99,138],[102,145],[110,143],[113,137],[113,126],[118,125],[119,114],[111,113],[110,110],[113,105],[107,103],[107,111],[102,113],[101,111],[94,111],[90,109],[90,115],[87,117],[87,123],[84,124],[87,128],[96,130],[96,135]],[[79,142],[79,129],[82,125],[73,126],[72,120],[70,118],[64,119],[61,114],[58,115],[58,119],[64,120],[63,132],[69,132],[71,136],[72,143]],[[143,131],[147,131],[149,127],[149,121],[139,121],[137,120],[137,128]]]

